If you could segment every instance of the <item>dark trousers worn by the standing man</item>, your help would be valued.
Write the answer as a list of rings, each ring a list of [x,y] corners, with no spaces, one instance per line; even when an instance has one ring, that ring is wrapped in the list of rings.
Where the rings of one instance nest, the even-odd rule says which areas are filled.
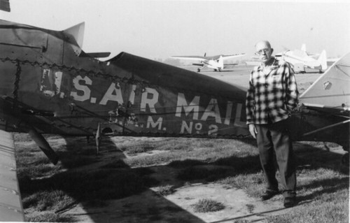
[[[278,191],[276,180],[277,161],[279,176],[284,197],[294,197],[297,185],[295,175],[295,158],[292,141],[288,130],[290,120],[282,120],[272,124],[256,124],[258,134],[256,141],[260,154],[260,162],[267,181],[267,190]]]

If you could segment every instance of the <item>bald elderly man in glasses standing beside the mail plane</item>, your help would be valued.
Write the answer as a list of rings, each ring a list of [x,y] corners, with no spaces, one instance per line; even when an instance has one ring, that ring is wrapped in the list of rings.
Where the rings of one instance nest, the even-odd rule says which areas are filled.
[[[297,83],[287,62],[272,57],[268,41],[255,44],[255,54],[261,65],[251,71],[246,95],[246,123],[256,138],[260,162],[267,182],[261,199],[271,199],[279,193],[276,180],[277,161],[286,208],[295,205],[295,161],[289,133],[290,112],[297,106]]]

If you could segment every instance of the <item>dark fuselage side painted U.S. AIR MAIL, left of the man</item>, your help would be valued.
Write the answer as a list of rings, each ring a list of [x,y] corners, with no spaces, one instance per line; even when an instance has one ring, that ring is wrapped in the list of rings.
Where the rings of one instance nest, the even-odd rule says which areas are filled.
[[[77,49],[64,31],[1,21],[2,129],[248,135],[244,89],[125,52],[101,62]]]

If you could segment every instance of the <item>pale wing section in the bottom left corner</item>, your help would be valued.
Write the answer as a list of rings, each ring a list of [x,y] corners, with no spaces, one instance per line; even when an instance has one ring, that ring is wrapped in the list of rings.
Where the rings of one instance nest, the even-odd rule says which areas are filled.
[[[0,221],[25,220],[16,174],[15,146],[12,134],[0,130]]]

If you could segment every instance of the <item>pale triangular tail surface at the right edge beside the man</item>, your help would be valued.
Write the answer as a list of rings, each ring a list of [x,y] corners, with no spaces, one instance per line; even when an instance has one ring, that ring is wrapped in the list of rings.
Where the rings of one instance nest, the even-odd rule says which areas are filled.
[[[301,96],[304,106],[350,110],[350,52],[335,62]]]

